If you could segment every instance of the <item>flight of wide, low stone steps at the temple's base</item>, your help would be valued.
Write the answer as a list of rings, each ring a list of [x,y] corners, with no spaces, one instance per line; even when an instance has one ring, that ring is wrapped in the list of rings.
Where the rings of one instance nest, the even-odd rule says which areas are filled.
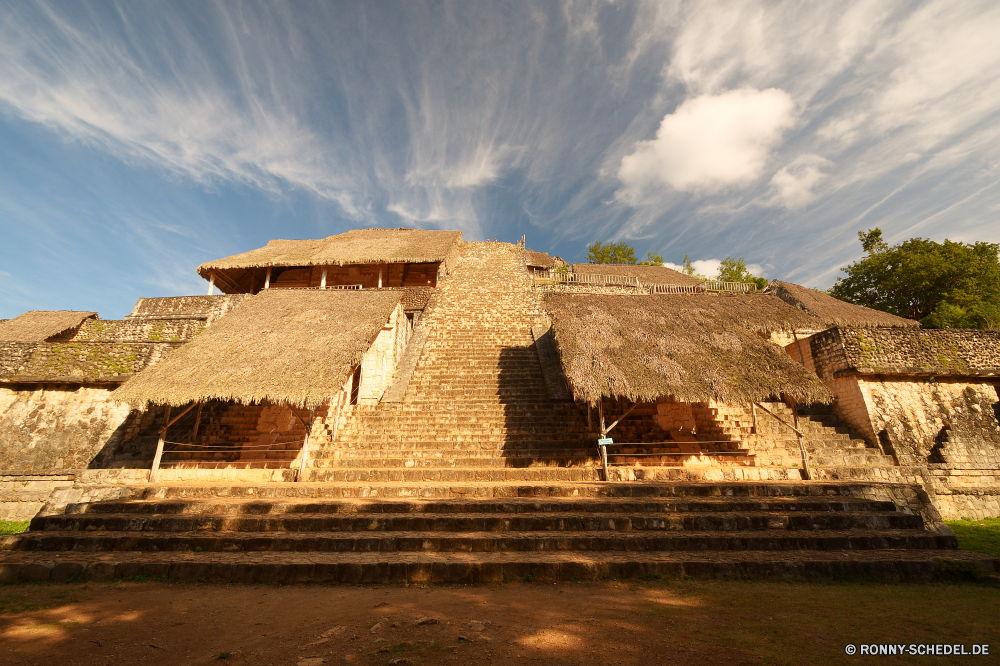
[[[942,559],[997,570],[954,551],[927,510],[897,484],[145,486],[0,538],[0,581],[926,580]]]

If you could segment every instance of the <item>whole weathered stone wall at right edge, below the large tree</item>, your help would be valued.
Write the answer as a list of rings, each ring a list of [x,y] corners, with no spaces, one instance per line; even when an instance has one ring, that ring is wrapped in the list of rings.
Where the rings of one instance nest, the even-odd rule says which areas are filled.
[[[830,387],[837,415],[920,469],[946,519],[1000,515],[996,331],[830,329],[808,349],[807,367]]]

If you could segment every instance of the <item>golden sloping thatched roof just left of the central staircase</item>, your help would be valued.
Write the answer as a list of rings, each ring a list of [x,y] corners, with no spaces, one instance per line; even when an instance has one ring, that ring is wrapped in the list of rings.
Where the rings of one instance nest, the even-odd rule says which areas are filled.
[[[399,291],[268,290],[248,298],[113,397],[315,407],[340,390],[399,304]]]

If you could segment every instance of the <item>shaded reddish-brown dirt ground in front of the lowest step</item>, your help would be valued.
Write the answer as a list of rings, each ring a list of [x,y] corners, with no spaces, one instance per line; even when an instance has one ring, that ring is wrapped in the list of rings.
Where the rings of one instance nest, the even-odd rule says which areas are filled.
[[[715,666],[866,659],[845,655],[852,642],[991,643],[992,660],[948,659],[987,663],[1000,654],[998,617],[1000,590],[972,584],[6,585],[0,664]]]

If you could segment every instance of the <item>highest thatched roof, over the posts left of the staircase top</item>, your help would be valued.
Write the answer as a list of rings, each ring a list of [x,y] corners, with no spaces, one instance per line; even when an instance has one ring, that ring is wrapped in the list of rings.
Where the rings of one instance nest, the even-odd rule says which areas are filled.
[[[273,240],[265,247],[202,264],[198,273],[266,266],[332,266],[444,261],[461,231],[352,229],[317,240]]]

